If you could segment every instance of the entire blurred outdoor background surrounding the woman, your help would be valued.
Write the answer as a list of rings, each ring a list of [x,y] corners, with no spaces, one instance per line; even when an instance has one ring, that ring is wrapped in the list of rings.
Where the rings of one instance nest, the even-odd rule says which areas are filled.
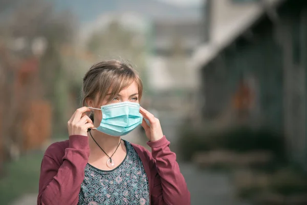
[[[0,204],[36,204],[107,58],[139,71],[192,204],[307,204],[303,0],[0,0]],[[146,146],[141,127],[124,138]]]

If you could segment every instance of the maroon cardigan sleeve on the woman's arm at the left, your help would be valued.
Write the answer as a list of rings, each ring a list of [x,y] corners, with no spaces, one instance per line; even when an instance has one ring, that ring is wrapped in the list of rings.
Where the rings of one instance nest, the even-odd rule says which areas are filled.
[[[61,142],[49,146],[41,162],[37,205],[78,204],[90,154],[88,140],[87,136],[72,135],[64,150]]]

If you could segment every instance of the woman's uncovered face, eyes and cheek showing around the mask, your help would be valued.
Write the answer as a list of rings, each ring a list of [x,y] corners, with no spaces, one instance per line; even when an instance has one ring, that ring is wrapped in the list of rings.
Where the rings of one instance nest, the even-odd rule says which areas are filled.
[[[111,89],[110,92],[111,93]],[[108,102],[110,94],[107,93],[105,99],[103,99],[100,106],[113,103],[121,103],[124,101],[130,101],[133,103],[139,103],[139,89],[137,83],[134,81],[130,86],[121,90],[111,101]],[[99,126],[102,119],[102,113],[99,110],[94,111],[94,126]],[[97,125],[96,125],[97,124]]]

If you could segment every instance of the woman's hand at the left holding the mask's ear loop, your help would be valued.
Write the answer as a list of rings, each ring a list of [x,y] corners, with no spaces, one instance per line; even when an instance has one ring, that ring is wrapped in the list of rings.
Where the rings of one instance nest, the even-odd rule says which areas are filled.
[[[68,121],[68,134],[87,136],[87,129],[94,128],[93,121],[84,112],[91,111],[90,108],[82,107],[75,111]]]

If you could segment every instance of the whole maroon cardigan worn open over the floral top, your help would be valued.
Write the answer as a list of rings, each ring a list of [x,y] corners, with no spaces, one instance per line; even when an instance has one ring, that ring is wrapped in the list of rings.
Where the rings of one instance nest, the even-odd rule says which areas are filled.
[[[131,144],[140,156],[149,182],[150,204],[190,204],[190,192],[180,173],[170,142],[162,139],[144,147]],[[78,204],[84,168],[90,155],[89,138],[72,135],[55,142],[42,158],[37,205]]]

